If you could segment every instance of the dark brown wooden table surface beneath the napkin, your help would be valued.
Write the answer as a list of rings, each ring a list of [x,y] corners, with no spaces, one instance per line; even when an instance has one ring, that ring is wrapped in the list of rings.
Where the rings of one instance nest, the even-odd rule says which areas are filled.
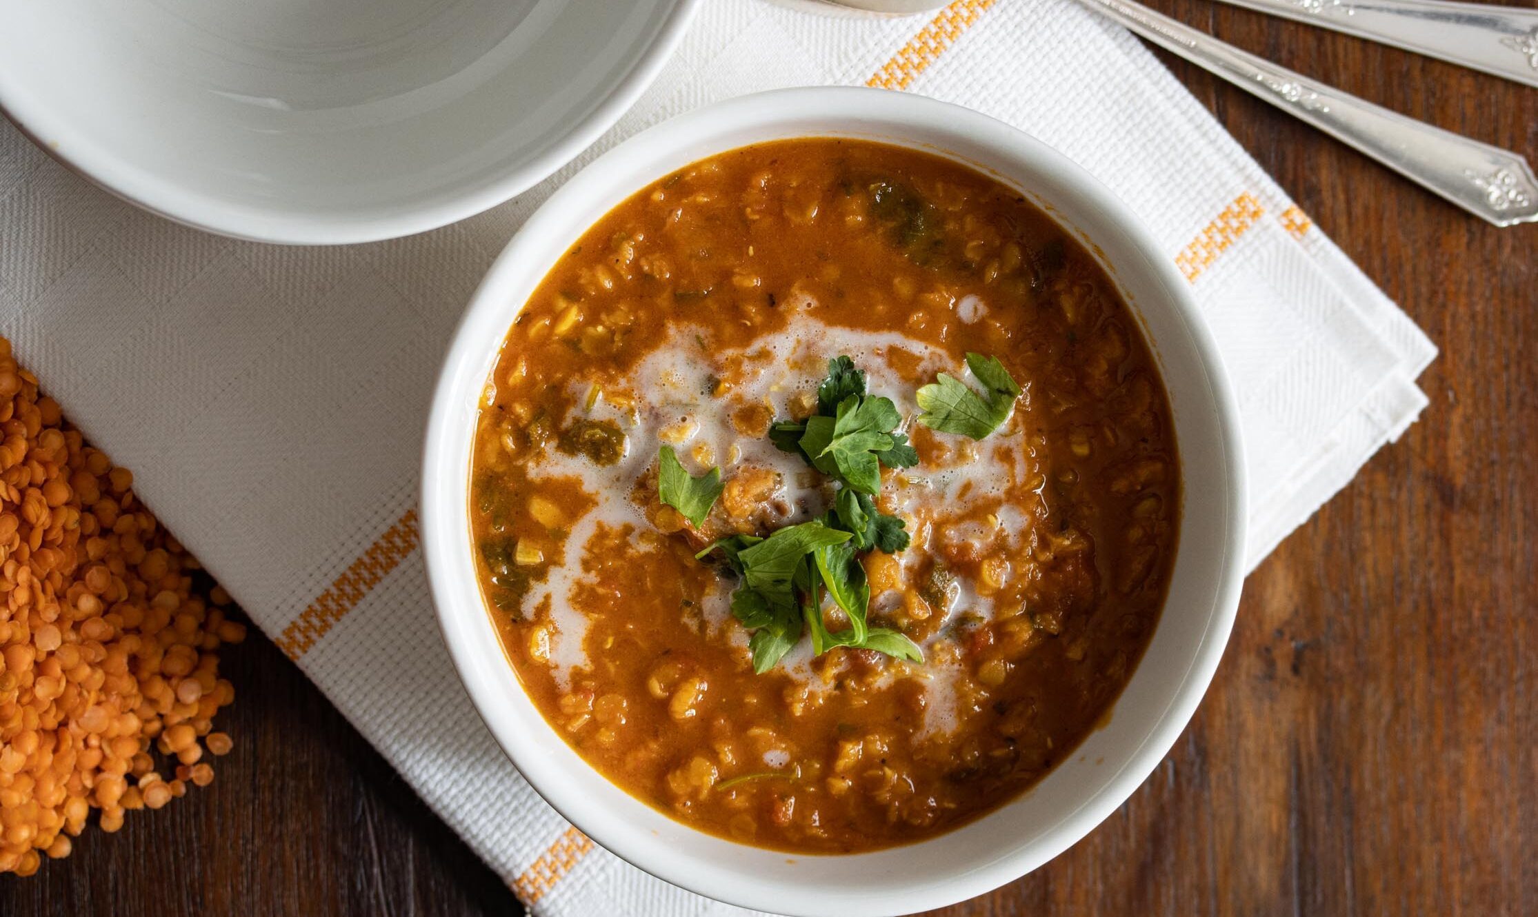
[[[1538,89],[1207,0],[1158,6],[1538,158]],[[1432,403],[1249,579],[1149,782],[1055,862],[943,914],[1538,912],[1538,226],[1486,226],[1166,62],[1441,346]],[[0,914],[520,911],[271,643],[225,659],[237,745],[214,786],[0,877]]]

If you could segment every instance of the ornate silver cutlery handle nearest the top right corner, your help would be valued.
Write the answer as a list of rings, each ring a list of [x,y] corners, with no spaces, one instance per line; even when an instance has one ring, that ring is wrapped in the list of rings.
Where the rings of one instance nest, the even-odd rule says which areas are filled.
[[[1224,0],[1538,86],[1538,9],[1446,0]]]

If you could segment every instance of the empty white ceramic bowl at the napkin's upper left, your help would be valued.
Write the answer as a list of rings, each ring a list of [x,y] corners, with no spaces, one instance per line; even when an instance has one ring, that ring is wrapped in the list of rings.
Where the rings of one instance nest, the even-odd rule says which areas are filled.
[[[0,0],[0,109],[109,191],[261,242],[421,232],[591,145],[697,0]]]

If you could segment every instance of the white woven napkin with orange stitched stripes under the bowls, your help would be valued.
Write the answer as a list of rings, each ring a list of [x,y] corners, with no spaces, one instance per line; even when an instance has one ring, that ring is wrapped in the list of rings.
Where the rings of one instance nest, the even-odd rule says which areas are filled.
[[[1066,0],[961,0],[934,18],[711,0],[580,162],[715,98],[866,82],[1018,125],[1147,222],[1238,385],[1252,565],[1426,405],[1421,331],[1137,40]],[[455,679],[418,559],[420,437],[446,338],[575,168],[426,235],[272,248],[143,214],[0,126],[0,334],[535,912],[738,912],[594,848],[529,789]]]

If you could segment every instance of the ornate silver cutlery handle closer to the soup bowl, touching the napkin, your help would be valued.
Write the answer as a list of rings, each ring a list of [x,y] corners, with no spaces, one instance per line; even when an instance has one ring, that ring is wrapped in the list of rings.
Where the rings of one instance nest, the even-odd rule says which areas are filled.
[[[1404,117],[1277,66],[1132,0],[1080,0],[1149,42],[1496,226],[1538,222],[1538,178],[1521,155]]]

